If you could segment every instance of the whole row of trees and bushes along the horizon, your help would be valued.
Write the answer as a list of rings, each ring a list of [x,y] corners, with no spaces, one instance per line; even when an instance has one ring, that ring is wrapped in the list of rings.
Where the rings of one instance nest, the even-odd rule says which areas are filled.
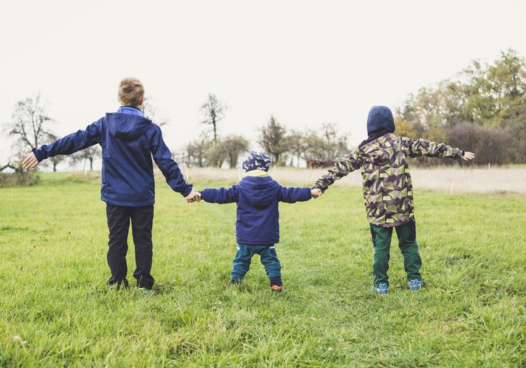
[[[165,125],[166,118],[156,114],[152,100],[142,110],[152,121]],[[252,148],[243,135],[217,135],[227,106],[213,94],[201,106],[203,120],[210,125],[174,154],[176,160],[189,167],[238,167],[238,161]],[[421,88],[410,94],[395,111],[396,134],[446,142],[476,154],[475,163],[502,165],[526,163],[526,64],[514,50],[502,52],[493,64],[475,60],[455,76]],[[13,155],[0,163],[17,172],[22,154],[57,137],[51,125],[53,118],[45,111],[40,95],[18,102],[13,121],[4,125],[13,139]],[[196,122],[198,123],[198,122]],[[257,143],[271,156],[274,165],[321,167],[330,165],[350,151],[347,133],[339,132],[335,123],[321,124],[321,130],[289,130],[271,116],[259,128]],[[93,146],[71,157],[57,156],[46,161],[53,170],[57,165],[82,165],[93,170],[100,160],[100,147]],[[452,161],[418,160],[419,165],[448,164]],[[89,165],[89,166],[88,166]]]

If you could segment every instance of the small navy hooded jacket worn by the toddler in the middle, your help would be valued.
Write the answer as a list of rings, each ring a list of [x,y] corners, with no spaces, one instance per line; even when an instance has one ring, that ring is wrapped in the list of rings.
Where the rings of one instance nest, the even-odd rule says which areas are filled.
[[[237,203],[236,239],[246,245],[279,243],[278,203],[311,199],[311,189],[285,188],[269,176],[244,177],[229,189],[205,189],[209,203]]]

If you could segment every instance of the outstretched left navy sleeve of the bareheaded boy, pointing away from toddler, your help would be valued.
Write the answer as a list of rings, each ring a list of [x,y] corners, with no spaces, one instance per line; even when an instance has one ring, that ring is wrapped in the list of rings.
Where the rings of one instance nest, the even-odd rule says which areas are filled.
[[[101,123],[100,120],[98,120],[88,125],[86,130],[79,130],[70,135],[66,135],[49,145],[44,144],[39,149],[33,150],[34,156],[40,162],[48,157],[74,154],[76,151],[86,149],[94,144],[100,144],[100,126]]]

